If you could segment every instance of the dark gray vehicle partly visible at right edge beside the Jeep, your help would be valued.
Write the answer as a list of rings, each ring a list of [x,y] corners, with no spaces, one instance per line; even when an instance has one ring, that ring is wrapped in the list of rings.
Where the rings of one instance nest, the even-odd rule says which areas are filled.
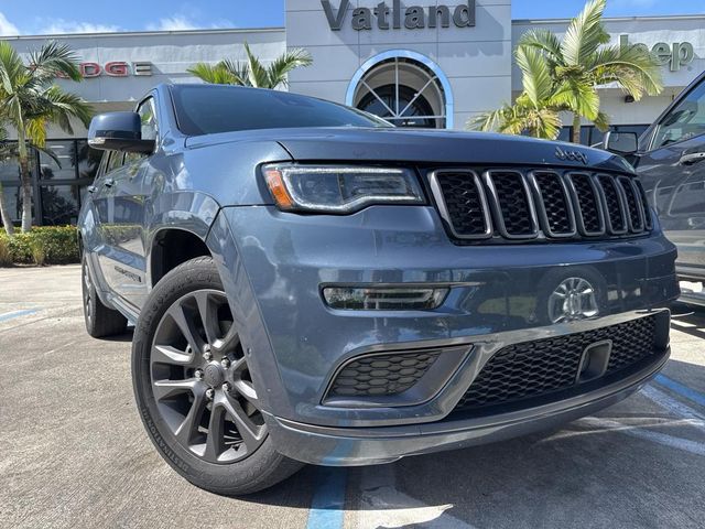
[[[679,250],[683,300],[705,304],[705,73],[637,139],[608,132],[605,147],[637,169],[649,202]]]

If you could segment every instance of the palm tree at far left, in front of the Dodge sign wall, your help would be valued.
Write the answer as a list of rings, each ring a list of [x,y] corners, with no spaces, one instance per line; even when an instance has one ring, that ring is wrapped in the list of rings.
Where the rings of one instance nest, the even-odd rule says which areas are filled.
[[[58,125],[73,134],[72,118],[77,118],[86,127],[90,121],[90,106],[54,83],[58,76],[80,80],[77,60],[77,55],[65,44],[48,42],[32,52],[29,63],[24,64],[9,43],[0,42],[0,119],[11,125],[18,134],[22,231],[29,231],[32,227],[29,143],[43,148],[50,123]]]

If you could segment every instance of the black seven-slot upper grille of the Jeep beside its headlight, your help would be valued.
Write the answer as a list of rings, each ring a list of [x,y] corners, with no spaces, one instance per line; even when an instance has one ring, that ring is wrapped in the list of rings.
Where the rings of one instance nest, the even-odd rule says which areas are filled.
[[[430,175],[459,244],[631,237],[652,229],[641,183],[589,171],[453,169]]]

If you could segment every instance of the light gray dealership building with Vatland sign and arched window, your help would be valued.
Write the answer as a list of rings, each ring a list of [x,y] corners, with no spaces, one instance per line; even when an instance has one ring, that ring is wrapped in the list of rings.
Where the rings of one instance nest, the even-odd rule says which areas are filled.
[[[519,37],[532,28],[556,33],[567,20],[512,20],[510,0],[286,0],[285,28],[199,30],[4,37],[20,53],[55,39],[80,56],[84,82],[59,80],[97,112],[131,109],[159,83],[197,82],[197,62],[245,58],[243,44],[262,61],[304,47],[312,66],[290,75],[291,91],[382,116],[401,127],[464,129],[479,112],[509,102],[521,90],[512,60]],[[662,62],[664,90],[633,101],[618,88],[600,88],[603,110],[621,130],[641,131],[705,69],[705,15],[606,19],[614,43],[640,43]],[[568,122],[566,120],[566,122]],[[37,224],[75,223],[100,153],[86,130],[73,137],[51,130],[33,168]],[[567,138],[566,127],[562,137]],[[585,126],[583,142],[601,133]],[[19,218],[19,170],[0,160],[6,205]]]

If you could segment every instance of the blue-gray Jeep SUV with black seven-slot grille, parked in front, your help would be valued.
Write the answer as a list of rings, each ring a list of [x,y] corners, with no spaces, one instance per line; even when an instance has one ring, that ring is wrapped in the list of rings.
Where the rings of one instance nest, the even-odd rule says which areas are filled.
[[[88,332],[135,324],[139,413],[206,489],[552,428],[668,359],[675,249],[620,156],[205,85],[89,142]]]

